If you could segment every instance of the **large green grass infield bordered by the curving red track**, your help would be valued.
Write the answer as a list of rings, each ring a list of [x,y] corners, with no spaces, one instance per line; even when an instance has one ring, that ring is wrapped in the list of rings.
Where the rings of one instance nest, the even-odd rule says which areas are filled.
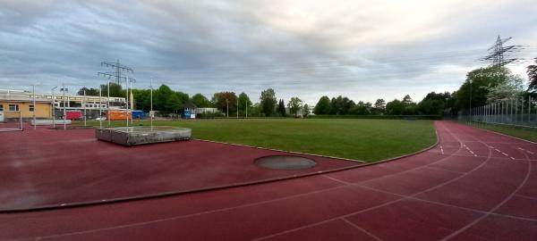
[[[98,121],[88,124],[98,126]],[[113,126],[124,124],[116,121]],[[134,120],[134,125],[149,121]],[[431,120],[155,120],[154,125],[190,128],[199,139],[367,162],[411,154],[436,142]]]

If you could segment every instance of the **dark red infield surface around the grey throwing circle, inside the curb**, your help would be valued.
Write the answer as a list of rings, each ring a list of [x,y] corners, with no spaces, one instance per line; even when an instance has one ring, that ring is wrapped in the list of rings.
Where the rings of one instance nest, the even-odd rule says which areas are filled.
[[[362,164],[200,140],[125,147],[98,141],[94,132],[39,128],[3,133],[0,212],[237,187]],[[271,170],[254,164],[270,155],[307,157],[316,165]]]

